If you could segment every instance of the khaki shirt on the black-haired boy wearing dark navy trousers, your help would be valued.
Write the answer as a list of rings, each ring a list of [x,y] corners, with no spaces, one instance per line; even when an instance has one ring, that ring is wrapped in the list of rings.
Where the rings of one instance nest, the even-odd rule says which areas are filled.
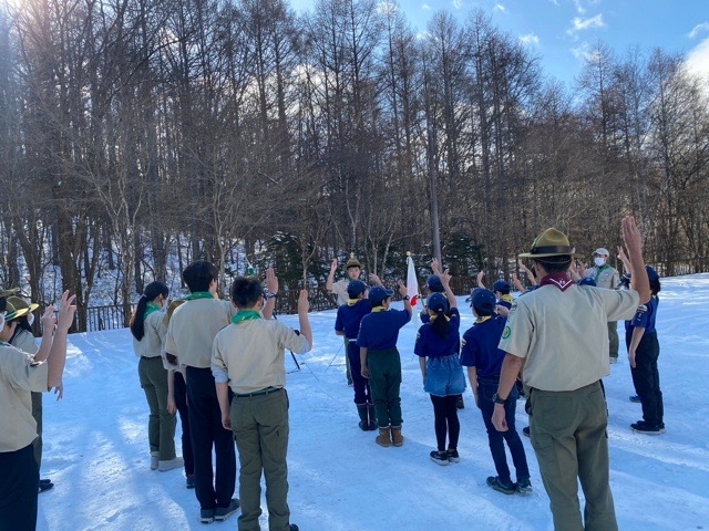
[[[232,322],[236,309],[218,299],[195,299],[179,305],[169,320],[165,352],[179,358],[181,365],[196,368],[212,366],[212,343]]]

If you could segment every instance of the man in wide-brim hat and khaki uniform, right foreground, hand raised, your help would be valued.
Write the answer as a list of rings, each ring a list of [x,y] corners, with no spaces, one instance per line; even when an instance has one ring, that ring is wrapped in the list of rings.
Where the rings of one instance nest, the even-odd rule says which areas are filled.
[[[614,531],[616,522],[608,482],[608,413],[600,378],[608,364],[608,321],[631,319],[650,299],[643,261],[641,235],[635,219],[623,219],[623,237],[633,271],[631,290],[578,285],[568,277],[574,256],[556,229],[540,235],[530,252],[540,288],[513,304],[500,348],[505,351],[493,424],[507,429],[504,404],[524,365],[530,388],[532,446],[549,497],[554,528]],[[586,498],[585,522],[577,485]]]

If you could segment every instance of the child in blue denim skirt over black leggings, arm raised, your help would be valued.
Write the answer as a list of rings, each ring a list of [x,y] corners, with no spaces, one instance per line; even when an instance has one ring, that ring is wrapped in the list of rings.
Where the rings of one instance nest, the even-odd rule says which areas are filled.
[[[419,329],[413,352],[419,356],[423,391],[429,393],[433,404],[438,449],[430,456],[433,462],[448,465],[460,461],[458,398],[465,391],[465,377],[459,356],[461,315],[451,291],[451,275],[445,271],[440,280],[445,294],[436,292],[429,296],[427,311],[430,320]]]

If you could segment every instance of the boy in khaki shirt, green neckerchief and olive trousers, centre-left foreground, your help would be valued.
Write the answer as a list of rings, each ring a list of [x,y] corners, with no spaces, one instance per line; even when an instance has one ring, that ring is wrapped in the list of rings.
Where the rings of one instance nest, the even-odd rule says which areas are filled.
[[[278,291],[273,269],[268,289]],[[234,433],[239,450],[239,531],[260,530],[261,472],[270,531],[298,531],[288,508],[288,394],[285,348],[304,354],[311,348],[308,292],[298,299],[300,332],[280,321],[264,319],[266,299],[260,283],[239,277],[232,284],[232,304],[238,313],[214,340],[212,372],[217,386],[222,425]],[[266,302],[268,301],[268,302]],[[270,314],[263,312],[264,314]],[[232,393],[229,393],[232,392]],[[229,400],[229,395],[233,398]]]

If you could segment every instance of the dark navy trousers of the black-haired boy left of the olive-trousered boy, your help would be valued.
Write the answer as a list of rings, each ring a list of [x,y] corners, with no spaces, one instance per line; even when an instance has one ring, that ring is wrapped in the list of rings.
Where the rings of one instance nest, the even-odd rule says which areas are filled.
[[[187,367],[187,404],[195,459],[195,494],[199,507],[228,507],[236,488],[236,450],[232,430],[222,426],[222,410],[210,368]],[[213,446],[216,478],[212,472]]]

